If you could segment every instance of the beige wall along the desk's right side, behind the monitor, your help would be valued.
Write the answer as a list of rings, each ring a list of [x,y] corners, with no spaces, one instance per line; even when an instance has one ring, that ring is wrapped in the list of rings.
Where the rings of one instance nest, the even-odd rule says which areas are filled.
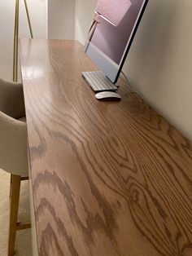
[[[96,0],[76,0],[85,41]],[[192,1],[149,1],[124,72],[146,101],[192,140]]]

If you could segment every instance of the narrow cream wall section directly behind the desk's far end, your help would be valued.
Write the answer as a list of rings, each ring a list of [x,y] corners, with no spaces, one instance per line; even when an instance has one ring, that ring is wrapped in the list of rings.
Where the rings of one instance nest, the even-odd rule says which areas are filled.
[[[48,38],[74,38],[76,0],[48,0]]]

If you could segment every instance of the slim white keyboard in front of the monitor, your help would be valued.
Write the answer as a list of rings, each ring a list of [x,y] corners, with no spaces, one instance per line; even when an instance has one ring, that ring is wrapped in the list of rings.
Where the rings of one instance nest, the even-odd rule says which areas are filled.
[[[82,76],[89,83],[94,91],[118,90],[117,86],[107,78],[102,71],[82,72]]]

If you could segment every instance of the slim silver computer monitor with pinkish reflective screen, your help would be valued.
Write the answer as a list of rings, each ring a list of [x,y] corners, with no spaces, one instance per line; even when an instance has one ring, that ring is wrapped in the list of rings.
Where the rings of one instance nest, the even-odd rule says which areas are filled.
[[[85,52],[116,83],[148,0],[99,0]]]

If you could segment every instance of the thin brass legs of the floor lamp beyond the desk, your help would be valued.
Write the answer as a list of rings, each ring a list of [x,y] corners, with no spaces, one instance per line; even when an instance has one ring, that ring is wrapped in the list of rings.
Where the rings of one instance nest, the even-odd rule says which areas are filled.
[[[24,7],[28,18],[28,27],[30,30],[31,38],[33,32],[31,22],[28,14],[27,0],[24,0]],[[19,14],[20,14],[20,0],[15,0],[15,29],[14,29],[14,48],[13,48],[13,82],[17,82],[17,69],[18,69],[18,39],[19,39]]]

